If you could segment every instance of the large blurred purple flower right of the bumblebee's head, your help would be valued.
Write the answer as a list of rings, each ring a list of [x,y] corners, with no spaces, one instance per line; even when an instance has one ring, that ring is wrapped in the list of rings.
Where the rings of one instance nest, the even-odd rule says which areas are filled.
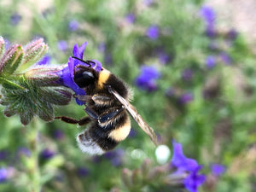
[[[156,79],[160,78],[160,72],[152,66],[142,66],[141,73],[136,79],[136,84],[143,90],[153,91],[157,89]]]

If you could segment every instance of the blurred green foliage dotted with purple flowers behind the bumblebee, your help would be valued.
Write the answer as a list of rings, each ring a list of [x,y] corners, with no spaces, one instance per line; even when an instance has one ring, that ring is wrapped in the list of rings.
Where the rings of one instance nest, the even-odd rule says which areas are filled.
[[[24,45],[44,38],[51,64],[67,63],[73,45],[86,41],[84,59],[101,61],[131,86],[132,104],[160,142],[172,151],[174,138],[204,165],[200,191],[255,191],[255,54],[250,37],[218,19],[217,8],[213,16],[203,9],[201,0],[1,0],[0,36]],[[138,84],[143,66],[160,77]],[[85,113],[73,100],[55,108],[60,115]],[[147,159],[152,169],[160,166],[154,144],[134,121],[113,152],[90,157],[75,141],[84,127],[0,119],[0,168],[8,172],[3,178],[0,172],[0,191],[186,191],[140,174],[131,175],[136,189],[125,183],[125,168],[138,170]],[[212,164],[225,166],[224,173],[213,177]]]

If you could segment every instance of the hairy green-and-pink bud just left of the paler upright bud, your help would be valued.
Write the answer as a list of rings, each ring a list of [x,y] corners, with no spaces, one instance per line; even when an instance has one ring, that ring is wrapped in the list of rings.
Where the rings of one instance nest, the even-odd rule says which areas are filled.
[[[23,59],[24,50],[20,44],[14,44],[7,49],[0,61],[0,73],[9,75],[15,72]]]

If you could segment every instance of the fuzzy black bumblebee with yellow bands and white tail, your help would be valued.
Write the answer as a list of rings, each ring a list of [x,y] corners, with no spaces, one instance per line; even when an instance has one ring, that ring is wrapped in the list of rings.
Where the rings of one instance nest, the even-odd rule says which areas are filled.
[[[74,82],[86,93],[85,96],[74,95],[84,102],[83,119],[72,119],[66,116],[56,117],[67,123],[90,126],[77,136],[79,148],[87,154],[104,154],[115,148],[131,131],[131,117],[156,144],[153,129],[137,113],[130,101],[131,89],[113,73],[102,67],[100,72],[90,67],[93,61],[84,61],[89,65],[78,65],[74,72]],[[128,112],[128,113],[127,113]]]

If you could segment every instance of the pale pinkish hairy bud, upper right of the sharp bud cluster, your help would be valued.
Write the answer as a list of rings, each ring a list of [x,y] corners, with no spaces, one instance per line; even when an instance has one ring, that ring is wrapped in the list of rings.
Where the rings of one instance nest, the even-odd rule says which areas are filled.
[[[31,64],[38,61],[46,52],[47,52],[48,46],[47,44],[44,44],[44,39],[39,38],[38,40],[33,41],[30,44],[27,44],[25,47],[25,55],[23,60],[22,69],[26,69]]]

